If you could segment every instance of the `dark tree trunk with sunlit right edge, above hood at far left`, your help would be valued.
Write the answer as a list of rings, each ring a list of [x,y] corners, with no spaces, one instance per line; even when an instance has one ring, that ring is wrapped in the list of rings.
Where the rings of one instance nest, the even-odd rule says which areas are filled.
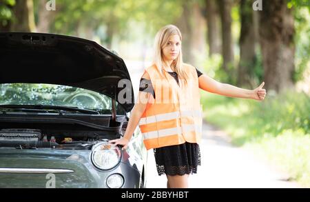
[[[15,0],[14,19],[11,30],[14,32],[34,32],[34,10],[32,0]]]

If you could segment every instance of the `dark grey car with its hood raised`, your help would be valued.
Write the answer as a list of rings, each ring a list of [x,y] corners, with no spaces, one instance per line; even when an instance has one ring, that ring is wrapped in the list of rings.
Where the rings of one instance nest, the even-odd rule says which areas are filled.
[[[59,34],[0,33],[0,188],[143,188],[134,91],[118,55]]]

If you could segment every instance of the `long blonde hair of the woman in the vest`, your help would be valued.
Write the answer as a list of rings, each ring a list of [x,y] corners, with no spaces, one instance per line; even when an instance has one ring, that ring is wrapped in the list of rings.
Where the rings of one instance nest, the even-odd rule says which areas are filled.
[[[173,35],[178,35],[180,37],[180,41],[182,41],[182,34],[180,30],[174,26],[174,25],[167,25],[163,28],[161,28],[155,37],[155,44],[154,44],[154,63],[156,65],[156,68],[158,68],[158,72],[165,75],[164,73],[164,66],[167,67],[167,63],[163,59],[163,48],[167,46],[167,43],[169,41],[169,38]],[[179,80],[185,81],[185,84],[187,84],[187,79],[189,78],[187,72],[183,70],[183,56],[182,56],[182,46],[180,48],[180,53],[178,54],[178,57],[174,59],[172,62],[171,68],[174,69],[174,71],[178,74]]]

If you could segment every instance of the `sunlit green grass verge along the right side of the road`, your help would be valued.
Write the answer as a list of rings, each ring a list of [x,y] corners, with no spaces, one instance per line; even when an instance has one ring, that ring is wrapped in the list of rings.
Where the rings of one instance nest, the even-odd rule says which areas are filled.
[[[279,165],[289,179],[310,188],[310,98],[282,92],[265,101],[203,93],[206,121],[231,135],[232,143],[250,148]]]

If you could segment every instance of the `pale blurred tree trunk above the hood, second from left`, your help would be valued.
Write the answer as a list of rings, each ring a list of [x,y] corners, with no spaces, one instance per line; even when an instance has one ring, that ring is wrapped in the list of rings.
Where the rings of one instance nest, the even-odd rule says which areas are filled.
[[[41,33],[50,32],[50,25],[54,21],[54,17],[56,15],[55,10],[46,10],[47,1],[40,0],[39,1],[39,21],[37,30]]]

